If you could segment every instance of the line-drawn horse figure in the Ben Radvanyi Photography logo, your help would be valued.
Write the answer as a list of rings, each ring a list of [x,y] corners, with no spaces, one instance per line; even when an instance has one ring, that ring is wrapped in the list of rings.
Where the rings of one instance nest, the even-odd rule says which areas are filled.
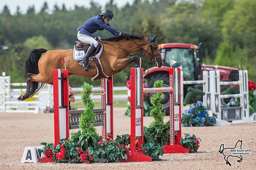
[[[239,144],[240,143],[240,144]],[[219,147],[219,153],[224,156],[224,160],[226,161],[226,165],[229,164],[231,166],[231,163],[229,162],[229,157],[237,157],[237,162],[241,163],[243,160],[243,157],[241,155],[234,155],[232,152],[236,152],[238,150],[242,150],[242,140],[238,140],[235,144],[235,147],[226,147],[224,148],[224,144],[221,144]]]

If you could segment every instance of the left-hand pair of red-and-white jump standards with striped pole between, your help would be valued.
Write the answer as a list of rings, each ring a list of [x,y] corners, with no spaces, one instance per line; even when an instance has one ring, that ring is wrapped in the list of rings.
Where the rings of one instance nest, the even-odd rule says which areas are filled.
[[[101,88],[92,89],[91,93],[101,93],[101,106],[105,109],[105,125],[102,126],[102,136],[107,134],[113,138],[113,77],[101,79]],[[53,70],[53,100],[54,100],[54,138],[55,146],[61,139],[69,138],[69,94],[81,94],[79,90],[69,90],[68,70]]]

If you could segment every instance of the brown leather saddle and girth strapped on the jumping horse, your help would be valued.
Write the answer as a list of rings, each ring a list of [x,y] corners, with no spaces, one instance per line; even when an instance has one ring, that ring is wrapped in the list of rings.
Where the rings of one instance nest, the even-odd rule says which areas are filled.
[[[102,42],[101,41],[98,41],[98,46],[96,48],[96,50],[93,52],[92,56],[95,56],[96,54],[98,54],[101,50],[101,47],[102,47]],[[76,45],[74,45],[74,48],[78,51],[82,51],[84,50],[85,51],[85,54],[88,50],[88,48],[90,47],[90,44],[87,44],[87,43],[81,43],[81,42],[78,42],[76,41],[75,42]],[[97,74],[96,76],[94,76],[92,78],[92,80],[98,80],[98,79],[103,79],[103,78],[109,78],[109,76],[107,76],[104,72],[103,72],[103,68],[102,68],[102,65],[101,65],[101,62],[100,62],[100,59],[99,58],[96,58],[96,57],[92,57],[93,61],[94,61],[94,64],[97,68]]]

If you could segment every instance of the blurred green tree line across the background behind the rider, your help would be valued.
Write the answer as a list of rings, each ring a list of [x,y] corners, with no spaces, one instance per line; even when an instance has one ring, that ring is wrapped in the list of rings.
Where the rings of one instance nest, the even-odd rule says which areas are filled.
[[[19,6],[11,14],[7,5],[0,11],[0,68],[12,76],[12,82],[23,82],[24,60],[33,48],[73,49],[76,29],[103,9],[111,9],[114,21],[110,25],[120,32],[153,36],[158,44],[203,42],[205,64],[248,69],[249,79],[256,80],[256,1],[255,0],[134,0],[118,8],[114,0],[105,7],[92,0],[90,7],[75,5],[73,10],[55,4],[49,11],[47,2],[39,12],[32,5],[26,13]],[[108,38],[108,31],[95,36]],[[153,67],[142,57],[144,69]],[[133,67],[133,66],[131,66]],[[126,68],[114,75],[116,85],[124,85]],[[88,78],[71,76],[73,87]]]

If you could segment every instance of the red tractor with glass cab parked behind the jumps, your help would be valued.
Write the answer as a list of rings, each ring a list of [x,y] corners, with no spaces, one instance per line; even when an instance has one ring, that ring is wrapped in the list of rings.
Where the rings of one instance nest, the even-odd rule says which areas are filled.
[[[163,87],[169,87],[169,68],[170,59],[176,61],[172,64],[172,68],[182,68],[183,80],[201,80],[203,70],[215,70],[218,69],[220,72],[220,80],[222,81],[237,81],[239,79],[238,69],[229,68],[223,66],[211,66],[202,63],[201,57],[201,45],[182,44],[182,43],[168,43],[160,44],[159,50],[163,58],[163,66],[161,68],[149,68],[145,70],[144,79],[146,79],[145,86],[153,87],[156,80],[164,80]],[[187,93],[187,88],[192,87],[194,89],[202,90],[201,84],[195,85],[184,85],[184,97]],[[221,91],[225,91],[229,86],[221,86]],[[162,104],[166,114],[169,114],[169,95],[163,93]],[[226,101],[222,101],[226,102]]]

